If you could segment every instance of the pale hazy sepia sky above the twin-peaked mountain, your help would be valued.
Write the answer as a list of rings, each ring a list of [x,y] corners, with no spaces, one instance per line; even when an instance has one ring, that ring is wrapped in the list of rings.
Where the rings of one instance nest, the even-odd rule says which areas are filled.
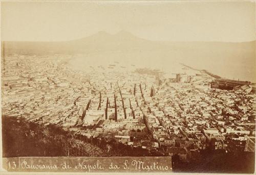
[[[2,2],[2,40],[61,41],[125,30],[150,40],[255,40],[255,2]]]

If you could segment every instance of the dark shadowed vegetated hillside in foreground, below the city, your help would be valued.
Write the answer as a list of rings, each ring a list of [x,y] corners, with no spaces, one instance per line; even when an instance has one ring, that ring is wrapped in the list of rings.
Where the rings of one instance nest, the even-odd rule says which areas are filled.
[[[44,126],[24,118],[2,117],[3,157],[58,156],[160,156],[141,147],[132,148],[114,139],[87,138],[64,131],[54,124]]]

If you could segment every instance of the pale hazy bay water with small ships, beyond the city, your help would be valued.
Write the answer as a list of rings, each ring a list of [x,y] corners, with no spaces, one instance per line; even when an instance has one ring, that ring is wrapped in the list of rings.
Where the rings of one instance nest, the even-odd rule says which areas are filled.
[[[76,55],[70,60],[69,66],[76,70],[90,72],[96,71],[133,71],[136,68],[159,69],[165,72],[166,77],[175,77],[175,73],[187,73],[194,75],[199,71],[185,69],[181,63],[195,69],[206,69],[222,78],[231,80],[255,82],[255,64],[246,61],[222,61],[205,58],[178,58],[168,53],[92,53]],[[113,68],[110,68],[113,67]]]

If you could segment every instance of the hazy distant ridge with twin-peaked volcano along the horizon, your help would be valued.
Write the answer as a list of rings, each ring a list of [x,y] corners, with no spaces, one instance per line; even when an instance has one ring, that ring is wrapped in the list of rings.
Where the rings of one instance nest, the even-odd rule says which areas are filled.
[[[231,42],[173,42],[173,41],[151,41],[138,38],[133,34],[120,31],[111,35],[106,32],[98,32],[88,37],[71,41],[2,41],[2,51],[9,54],[76,54],[90,53],[95,51],[129,51],[137,49],[146,51],[148,49],[250,49],[255,48],[255,41],[231,43]]]

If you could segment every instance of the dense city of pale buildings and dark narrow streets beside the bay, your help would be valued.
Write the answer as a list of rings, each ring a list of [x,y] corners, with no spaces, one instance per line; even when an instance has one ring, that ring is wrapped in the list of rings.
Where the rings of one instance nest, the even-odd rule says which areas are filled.
[[[72,57],[2,59],[2,115],[183,161],[204,149],[255,152],[253,83],[196,69],[166,78],[160,70],[128,71],[119,62],[85,73],[68,66]]]

